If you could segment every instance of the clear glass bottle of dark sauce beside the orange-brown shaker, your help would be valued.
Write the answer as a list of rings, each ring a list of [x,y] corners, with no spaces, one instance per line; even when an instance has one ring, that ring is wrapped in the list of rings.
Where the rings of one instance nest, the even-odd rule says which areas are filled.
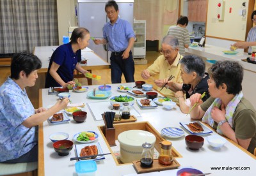
[[[150,168],[153,165],[153,156],[150,153],[152,147],[151,143],[145,142],[142,144],[143,150],[140,159],[140,166],[143,168]]]

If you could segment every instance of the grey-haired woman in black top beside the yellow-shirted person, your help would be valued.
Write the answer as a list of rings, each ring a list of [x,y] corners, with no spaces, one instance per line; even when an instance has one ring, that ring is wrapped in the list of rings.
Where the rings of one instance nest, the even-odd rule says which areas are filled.
[[[210,97],[207,84],[209,75],[205,73],[205,62],[196,55],[186,55],[179,63],[183,84],[177,84],[167,79],[164,79],[164,82],[168,82],[166,87],[175,92],[175,98],[179,101],[181,112],[188,113],[190,106],[189,97],[191,95],[195,93],[203,94],[205,92],[203,101]]]

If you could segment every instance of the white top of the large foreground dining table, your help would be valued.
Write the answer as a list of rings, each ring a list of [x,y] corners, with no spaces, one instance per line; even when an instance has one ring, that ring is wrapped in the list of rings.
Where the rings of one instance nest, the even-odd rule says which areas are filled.
[[[117,91],[120,84],[109,85],[111,85],[111,96],[127,94],[127,92]],[[135,84],[125,83],[122,85],[133,87]],[[48,120],[40,124],[38,132],[38,175],[77,175],[75,169],[75,163],[77,161],[70,161],[70,158],[76,157],[76,147],[73,147],[68,156],[58,156],[49,139],[49,135],[52,133],[68,133],[68,140],[72,140],[74,134],[78,132],[95,131],[99,134],[97,142],[100,143],[103,153],[110,152],[104,138],[100,135],[99,128],[97,128],[98,126],[103,126],[104,122],[102,120],[96,121],[95,117],[93,117],[93,112],[91,112],[88,107],[88,103],[109,101],[109,98],[88,98],[88,92],[93,91],[93,88],[98,88],[99,85],[90,85],[88,87],[89,89],[87,92],[70,91],[70,100],[72,103],[84,103],[86,105],[83,108],[83,110],[88,113],[86,121],[83,123],[76,123],[72,119],[72,116],[70,116],[70,121],[63,124],[51,124]],[[131,94],[129,95],[131,96]],[[158,95],[162,96],[161,94]],[[49,95],[48,89],[40,89],[39,99],[40,105],[47,108],[56,103],[58,96],[52,94]],[[104,113],[104,108],[99,107],[98,111]],[[190,133],[180,125],[180,122],[190,122],[191,119],[189,115],[180,112],[179,106],[175,106],[172,110],[166,110],[161,105],[156,108],[142,109],[138,103],[134,103],[133,108],[140,113],[140,117],[137,117],[138,120],[136,122],[150,122],[159,133],[161,133],[161,129],[166,127],[176,127],[184,130],[185,135],[180,138],[166,138],[166,140],[172,142],[172,146],[182,156],[176,158],[180,164],[180,168],[192,167],[201,170],[203,173],[212,173],[212,175],[254,175],[256,173],[255,156],[238,145],[235,145],[234,142],[228,140],[228,142],[220,149],[212,148],[207,142],[206,137],[218,134],[208,126],[206,126],[206,128],[212,130],[212,133],[202,135],[205,139],[203,147],[199,150],[188,149],[184,138],[186,135],[190,135]],[[111,111],[111,109],[109,109],[109,111]],[[74,141],[74,144],[79,143]],[[216,167],[220,168],[218,169]],[[177,170],[179,170],[179,168],[161,172],[142,173],[140,175],[176,175]],[[105,159],[97,161],[97,172],[95,175],[137,175],[137,173],[132,164],[116,165],[113,156],[106,155]]]

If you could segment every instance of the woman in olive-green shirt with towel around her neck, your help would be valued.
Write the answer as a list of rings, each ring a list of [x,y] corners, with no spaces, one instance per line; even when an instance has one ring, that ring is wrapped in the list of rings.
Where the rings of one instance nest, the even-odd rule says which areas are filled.
[[[191,119],[202,119],[217,133],[253,153],[256,147],[256,111],[243,96],[242,66],[234,61],[218,61],[208,73],[211,97],[204,103],[201,94],[190,97],[191,107],[198,102],[190,112]]]

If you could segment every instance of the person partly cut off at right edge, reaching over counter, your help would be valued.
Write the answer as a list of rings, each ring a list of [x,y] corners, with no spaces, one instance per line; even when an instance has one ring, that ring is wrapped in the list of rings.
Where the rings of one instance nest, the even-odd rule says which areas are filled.
[[[252,22],[256,25],[256,10],[252,12]],[[250,29],[246,41],[237,41],[234,45],[231,45],[230,50],[236,50],[236,48],[248,49],[248,53],[252,53],[252,46],[256,46],[256,26]]]

